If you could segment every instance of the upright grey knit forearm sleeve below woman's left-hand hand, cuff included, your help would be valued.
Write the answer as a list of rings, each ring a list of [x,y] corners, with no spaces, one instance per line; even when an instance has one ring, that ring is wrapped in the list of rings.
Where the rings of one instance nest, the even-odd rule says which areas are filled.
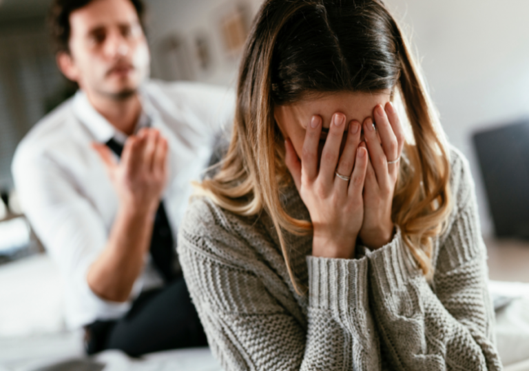
[[[309,328],[302,370],[380,370],[366,258],[307,262]]]

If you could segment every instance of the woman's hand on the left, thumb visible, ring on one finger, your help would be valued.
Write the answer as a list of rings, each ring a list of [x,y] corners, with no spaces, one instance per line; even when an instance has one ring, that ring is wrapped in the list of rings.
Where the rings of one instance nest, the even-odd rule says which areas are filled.
[[[333,114],[319,169],[321,117],[313,116],[311,123],[307,125],[301,161],[291,141],[285,141],[287,168],[311,214],[314,228],[312,254],[315,257],[351,259],[364,218],[362,190],[367,151],[365,143],[360,143],[360,123],[351,121],[340,156],[345,121],[344,114]],[[341,179],[335,172],[351,177],[351,180]]]

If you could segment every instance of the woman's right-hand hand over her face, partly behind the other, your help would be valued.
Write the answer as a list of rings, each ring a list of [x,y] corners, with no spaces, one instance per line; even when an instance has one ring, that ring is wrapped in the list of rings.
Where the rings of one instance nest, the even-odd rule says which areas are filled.
[[[368,248],[377,249],[393,238],[391,207],[400,161],[388,162],[400,159],[404,130],[391,102],[386,103],[385,109],[382,105],[376,106],[373,117],[376,130],[371,117],[364,121],[369,163],[364,183],[364,223],[359,237]]]

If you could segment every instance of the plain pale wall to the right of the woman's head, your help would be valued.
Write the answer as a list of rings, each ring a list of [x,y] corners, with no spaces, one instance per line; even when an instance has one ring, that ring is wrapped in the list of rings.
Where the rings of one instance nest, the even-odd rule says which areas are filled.
[[[413,31],[448,140],[470,161],[481,228],[491,234],[492,219],[471,135],[529,116],[529,1],[386,3]]]

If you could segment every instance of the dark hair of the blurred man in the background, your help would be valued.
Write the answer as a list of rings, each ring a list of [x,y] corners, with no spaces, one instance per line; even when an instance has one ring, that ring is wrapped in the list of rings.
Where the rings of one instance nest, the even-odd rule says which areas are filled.
[[[54,0],[50,10],[49,22],[52,33],[52,43],[55,52],[70,52],[68,42],[70,41],[70,14],[75,10],[87,6],[94,0]],[[145,30],[144,13],[145,6],[141,0],[129,0],[140,20],[142,28]]]

